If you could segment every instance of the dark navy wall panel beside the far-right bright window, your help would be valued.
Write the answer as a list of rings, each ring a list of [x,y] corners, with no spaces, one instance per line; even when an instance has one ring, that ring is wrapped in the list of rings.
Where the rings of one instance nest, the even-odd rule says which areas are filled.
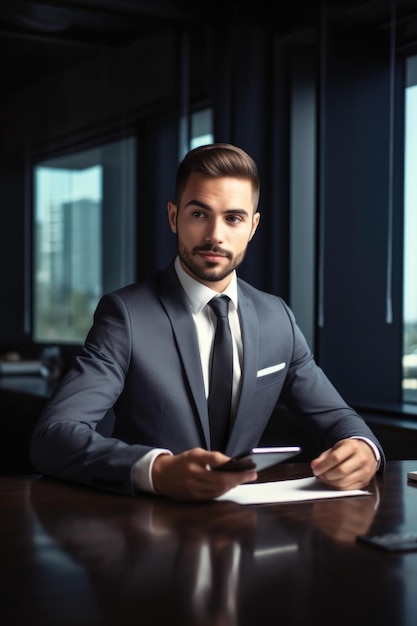
[[[333,39],[326,69],[320,363],[350,403],[398,402],[400,294],[388,278],[398,276],[389,255],[398,242],[390,223],[388,44]]]

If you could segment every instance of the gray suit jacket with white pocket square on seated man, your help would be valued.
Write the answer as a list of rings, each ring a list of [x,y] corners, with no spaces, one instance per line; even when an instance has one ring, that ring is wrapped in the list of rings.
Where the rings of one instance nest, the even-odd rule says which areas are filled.
[[[359,435],[381,445],[317,366],[288,306],[238,279],[241,394],[226,454],[256,446],[278,402],[322,449]],[[112,437],[96,432],[114,408]],[[341,419],[343,418],[343,419]],[[279,443],[279,442],[277,442]],[[194,321],[173,264],[105,295],[84,347],[35,427],[31,460],[52,474],[133,494],[131,468],[150,449],[210,449]]]

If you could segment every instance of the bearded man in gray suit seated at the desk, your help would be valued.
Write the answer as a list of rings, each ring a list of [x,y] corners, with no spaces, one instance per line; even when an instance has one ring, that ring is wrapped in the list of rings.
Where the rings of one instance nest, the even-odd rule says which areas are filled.
[[[211,144],[184,157],[168,203],[177,256],[99,302],[35,427],[31,459],[39,472],[127,495],[214,498],[256,479],[252,470],[211,468],[256,446],[278,402],[316,436],[318,480],[363,488],[384,471],[380,443],[318,367],[286,303],[237,277],[259,224],[259,193],[256,164],[240,148]],[[213,449],[217,322],[208,303],[219,294],[230,298],[233,387],[226,441]],[[114,430],[104,437],[96,429],[112,408]]]

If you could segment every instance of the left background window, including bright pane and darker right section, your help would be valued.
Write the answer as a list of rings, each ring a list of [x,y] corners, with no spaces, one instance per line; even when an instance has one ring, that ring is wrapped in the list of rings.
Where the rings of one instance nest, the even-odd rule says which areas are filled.
[[[82,343],[100,296],[135,279],[135,140],[34,168],[33,340]]]

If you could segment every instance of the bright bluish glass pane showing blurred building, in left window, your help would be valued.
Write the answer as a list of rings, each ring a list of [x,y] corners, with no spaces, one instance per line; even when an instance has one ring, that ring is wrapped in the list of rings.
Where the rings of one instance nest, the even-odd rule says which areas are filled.
[[[34,338],[85,336],[102,291],[103,168],[35,168]]]

